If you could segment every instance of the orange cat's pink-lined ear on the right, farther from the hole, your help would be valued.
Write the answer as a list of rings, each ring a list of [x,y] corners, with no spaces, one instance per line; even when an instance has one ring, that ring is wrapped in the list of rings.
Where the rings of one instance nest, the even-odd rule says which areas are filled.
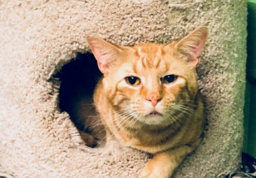
[[[187,56],[188,62],[193,68],[198,66],[200,62],[200,56],[204,50],[207,34],[207,27],[199,26],[175,44],[175,48]]]

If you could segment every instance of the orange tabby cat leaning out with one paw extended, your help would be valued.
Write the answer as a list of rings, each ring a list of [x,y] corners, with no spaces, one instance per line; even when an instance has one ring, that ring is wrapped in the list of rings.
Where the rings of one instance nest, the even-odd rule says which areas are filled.
[[[104,74],[94,92],[107,142],[154,157],[140,177],[169,177],[202,140],[205,114],[196,66],[207,37],[200,26],[180,41],[119,46],[88,35]]]

